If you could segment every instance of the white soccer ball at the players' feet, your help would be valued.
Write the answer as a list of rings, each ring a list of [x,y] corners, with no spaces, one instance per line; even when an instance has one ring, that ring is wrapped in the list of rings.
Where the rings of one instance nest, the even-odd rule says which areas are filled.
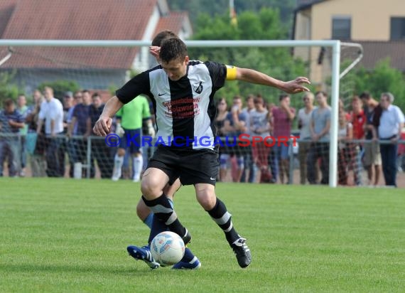
[[[170,231],[159,233],[151,243],[151,255],[162,266],[179,262],[183,258],[184,250],[183,239]]]

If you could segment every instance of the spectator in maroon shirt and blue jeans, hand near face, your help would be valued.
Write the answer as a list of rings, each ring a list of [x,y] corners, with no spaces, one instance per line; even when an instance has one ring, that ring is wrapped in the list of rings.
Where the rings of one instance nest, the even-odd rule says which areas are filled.
[[[291,136],[291,122],[296,117],[296,110],[290,107],[290,96],[281,94],[279,97],[279,107],[273,108],[273,136],[277,139],[274,144],[274,164],[279,168],[279,176],[281,184],[289,183],[289,161],[288,147],[290,145],[289,137]],[[275,178],[276,179],[276,178]]]

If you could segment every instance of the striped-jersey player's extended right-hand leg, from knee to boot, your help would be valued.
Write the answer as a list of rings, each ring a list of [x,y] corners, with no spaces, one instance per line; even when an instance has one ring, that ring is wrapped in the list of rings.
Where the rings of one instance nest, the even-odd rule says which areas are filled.
[[[215,187],[207,183],[195,184],[198,202],[207,211],[212,220],[220,226],[225,233],[225,238],[234,250],[240,267],[247,267],[252,262],[252,255],[242,238],[232,224],[232,215],[227,211],[225,204],[215,196]]]

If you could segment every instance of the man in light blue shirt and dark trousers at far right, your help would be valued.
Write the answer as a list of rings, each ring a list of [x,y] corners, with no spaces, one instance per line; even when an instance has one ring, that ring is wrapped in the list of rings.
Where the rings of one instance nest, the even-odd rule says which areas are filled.
[[[392,105],[394,95],[391,92],[384,92],[381,95],[380,105],[382,115],[379,121],[378,137],[389,143],[380,144],[382,161],[382,173],[384,174],[385,185],[396,187],[396,154],[398,153],[398,140],[401,137],[404,127],[404,113],[399,107]]]

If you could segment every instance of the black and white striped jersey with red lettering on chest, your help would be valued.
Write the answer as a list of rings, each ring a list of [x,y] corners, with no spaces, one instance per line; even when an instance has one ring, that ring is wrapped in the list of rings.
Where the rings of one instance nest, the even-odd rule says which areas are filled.
[[[170,80],[158,65],[126,82],[116,95],[124,104],[139,95],[151,97],[161,144],[213,149],[214,95],[226,78],[227,65],[190,60],[180,80]]]

